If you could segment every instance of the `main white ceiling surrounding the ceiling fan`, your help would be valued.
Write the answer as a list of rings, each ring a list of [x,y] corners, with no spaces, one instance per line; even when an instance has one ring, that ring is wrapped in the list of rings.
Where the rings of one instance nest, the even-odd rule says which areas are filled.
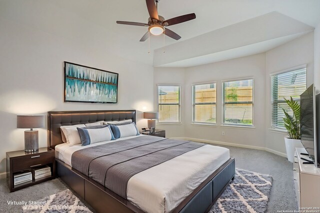
[[[88,30],[98,29],[97,32],[92,31],[96,45],[104,45],[106,51],[129,60],[152,65],[153,50],[163,46],[162,36],[152,36],[150,53],[148,53],[148,40],[139,42],[147,31],[147,27],[115,23],[116,20],[146,22],[148,12],[145,0],[1,0],[0,4],[2,7],[0,16],[24,22],[54,34],[60,33],[60,29],[68,29],[66,27],[70,26],[68,22],[70,20],[85,22],[83,27],[87,27],[87,23],[90,23]],[[12,12],[12,9],[16,7],[20,7],[19,13]],[[320,22],[320,0],[160,0],[158,4],[159,14],[167,19],[191,12],[196,14],[194,20],[168,27],[182,38],[175,41],[166,37],[165,45],[193,38],[272,11],[277,11],[313,27]],[[30,17],[32,15],[34,17]],[[51,17],[48,17],[49,15]],[[60,17],[63,17],[64,20],[59,20]],[[68,17],[71,19],[66,20],[65,18]],[[56,22],[52,27],[52,25],[46,25],[46,19],[60,22]],[[65,36],[71,37],[71,33],[74,33],[74,36],[80,36],[78,35],[79,30],[80,27],[79,29],[74,27],[72,32],[66,30],[65,32],[69,34]],[[274,28],[274,30],[277,29]],[[83,40],[85,40],[84,37]],[[205,63],[205,60],[203,62]]]

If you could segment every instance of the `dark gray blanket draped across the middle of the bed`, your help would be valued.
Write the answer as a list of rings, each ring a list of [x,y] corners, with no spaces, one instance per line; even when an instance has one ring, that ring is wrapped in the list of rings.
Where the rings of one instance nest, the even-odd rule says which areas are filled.
[[[78,150],[72,168],[126,199],[129,179],[183,153],[205,144],[141,136]]]

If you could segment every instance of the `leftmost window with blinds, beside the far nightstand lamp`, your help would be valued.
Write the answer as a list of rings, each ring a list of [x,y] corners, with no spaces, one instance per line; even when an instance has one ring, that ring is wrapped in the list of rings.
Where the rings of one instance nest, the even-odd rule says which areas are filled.
[[[158,85],[158,122],[180,122],[180,86]]]

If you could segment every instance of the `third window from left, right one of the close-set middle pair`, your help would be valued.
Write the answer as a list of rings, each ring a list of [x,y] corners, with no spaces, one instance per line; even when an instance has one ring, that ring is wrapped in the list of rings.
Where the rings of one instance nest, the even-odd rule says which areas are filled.
[[[222,82],[222,125],[252,126],[253,79]]]

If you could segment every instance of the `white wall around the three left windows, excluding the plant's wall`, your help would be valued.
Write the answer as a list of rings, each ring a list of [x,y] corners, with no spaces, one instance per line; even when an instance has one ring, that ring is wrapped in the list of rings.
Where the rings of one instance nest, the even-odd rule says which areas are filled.
[[[156,84],[181,84],[181,124],[159,125],[167,137],[188,137],[203,140],[264,147],[264,93],[265,54],[256,54],[190,68],[154,68],[154,110],[156,110]],[[221,128],[221,95],[217,95],[217,126],[191,124],[191,84],[216,81],[217,94],[221,94],[221,80],[254,78],[253,129]],[[261,113],[262,112],[262,113]],[[225,132],[225,136],[221,132]]]

